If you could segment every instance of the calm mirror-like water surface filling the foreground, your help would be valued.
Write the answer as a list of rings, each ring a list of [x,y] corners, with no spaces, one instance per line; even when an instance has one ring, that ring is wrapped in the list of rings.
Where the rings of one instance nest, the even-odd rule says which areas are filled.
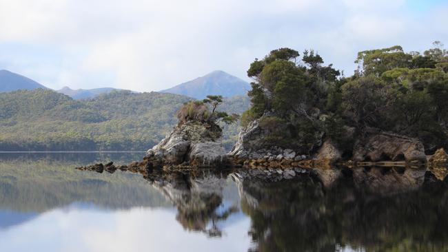
[[[448,251],[448,193],[78,171],[142,154],[0,154],[0,251]]]

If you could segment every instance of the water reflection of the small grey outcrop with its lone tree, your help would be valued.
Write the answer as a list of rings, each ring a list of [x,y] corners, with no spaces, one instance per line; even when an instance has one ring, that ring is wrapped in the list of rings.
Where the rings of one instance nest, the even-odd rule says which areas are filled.
[[[189,231],[201,231],[209,237],[223,234],[218,222],[226,220],[238,207],[223,205],[223,190],[227,186],[227,173],[201,171],[188,173],[181,171],[150,175],[147,179],[169,198],[178,209],[176,220]]]

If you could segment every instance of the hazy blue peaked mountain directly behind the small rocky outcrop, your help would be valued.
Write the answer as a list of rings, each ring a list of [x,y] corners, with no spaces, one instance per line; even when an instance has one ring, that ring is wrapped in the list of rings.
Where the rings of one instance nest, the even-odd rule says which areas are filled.
[[[245,96],[249,90],[251,90],[250,84],[241,80],[241,78],[216,70],[161,92],[183,94],[196,99],[203,99],[209,94],[217,94],[224,97]]]

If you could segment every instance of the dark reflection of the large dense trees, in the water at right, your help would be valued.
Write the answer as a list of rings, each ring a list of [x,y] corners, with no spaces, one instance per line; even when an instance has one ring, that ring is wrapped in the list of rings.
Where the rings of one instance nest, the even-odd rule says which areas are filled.
[[[241,180],[241,208],[252,219],[253,251],[446,251],[445,186],[390,195],[358,190],[342,179],[322,182]]]

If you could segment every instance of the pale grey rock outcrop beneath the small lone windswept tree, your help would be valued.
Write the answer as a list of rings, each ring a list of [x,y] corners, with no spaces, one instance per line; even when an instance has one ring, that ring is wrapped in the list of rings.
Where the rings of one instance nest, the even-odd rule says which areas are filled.
[[[189,121],[178,125],[148,150],[146,158],[152,160],[154,166],[223,165],[227,158],[221,136],[218,125]]]

